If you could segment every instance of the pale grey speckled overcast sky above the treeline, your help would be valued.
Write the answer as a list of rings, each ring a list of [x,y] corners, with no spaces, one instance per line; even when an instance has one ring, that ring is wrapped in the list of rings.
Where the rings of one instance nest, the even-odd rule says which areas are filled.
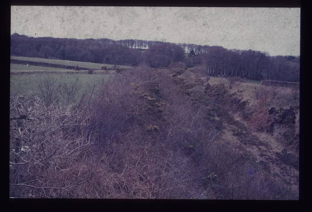
[[[158,40],[300,55],[300,8],[11,6],[11,35]]]

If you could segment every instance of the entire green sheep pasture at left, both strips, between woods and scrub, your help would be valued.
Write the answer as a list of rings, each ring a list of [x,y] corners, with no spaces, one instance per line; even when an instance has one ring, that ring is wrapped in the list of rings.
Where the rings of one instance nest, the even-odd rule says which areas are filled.
[[[10,64],[10,92],[17,95],[33,95],[37,94],[37,82],[47,76],[57,79],[58,82],[71,82],[78,80],[81,85],[80,92],[92,89],[94,85],[100,85],[104,80],[113,77],[115,71],[100,70],[104,64],[89,63],[89,62],[76,62],[56,59],[45,58],[28,58],[11,56],[11,62],[14,60],[16,63]],[[27,66],[27,62],[35,64]],[[24,64],[26,63],[26,64]],[[36,65],[38,63],[38,65]],[[40,64],[44,63],[43,66]],[[48,65],[51,64],[51,67]],[[68,67],[75,67],[78,65],[80,71],[68,69]],[[53,67],[54,66],[54,67]],[[63,67],[64,66],[64,67]],[[114,65],[105,64],[106,67],[112,68]],[[119,68],[125,66],[117,66]],[[85,68],[85,70],[84,70]],[[88,74],[86,69],[97,69],[95,74]]]

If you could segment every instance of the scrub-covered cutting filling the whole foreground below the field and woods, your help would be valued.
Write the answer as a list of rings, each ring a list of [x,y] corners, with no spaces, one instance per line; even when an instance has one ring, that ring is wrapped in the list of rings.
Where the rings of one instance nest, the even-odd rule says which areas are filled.
[[[77,97],[12,96],[10,196],[298,199],[298,89],[171,63]]]

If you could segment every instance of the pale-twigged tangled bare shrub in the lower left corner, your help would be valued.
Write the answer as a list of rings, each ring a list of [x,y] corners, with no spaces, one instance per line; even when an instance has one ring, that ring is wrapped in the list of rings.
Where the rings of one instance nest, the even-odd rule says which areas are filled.
[[[78,197],[97,173],[88,151],[91,131],[72,105],[46,106],[35,98],[10,101],[10,196]]]

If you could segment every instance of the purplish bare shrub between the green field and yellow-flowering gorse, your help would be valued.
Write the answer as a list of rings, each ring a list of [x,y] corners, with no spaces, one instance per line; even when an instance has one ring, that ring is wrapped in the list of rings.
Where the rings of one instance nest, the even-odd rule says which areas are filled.
[[[91,102],[90,127],[100,130],[102,138],[118,136],[118,131],[129,127],[130,118],[141,115],[142,107],[137,107],[131,94],[132,79],[124,74],[110,77],[96,92]],[[134,114],[134,116],[132,115]],[[136,115],[135,115],[136,114]]]

